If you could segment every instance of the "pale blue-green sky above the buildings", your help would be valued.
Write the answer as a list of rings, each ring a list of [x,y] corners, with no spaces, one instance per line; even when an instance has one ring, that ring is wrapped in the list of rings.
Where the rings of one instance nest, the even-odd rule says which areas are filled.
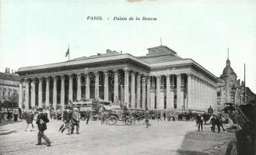
[[[88,20],[101,16],[103,20]],[[114,17],[156,18],[114,20]],[[0,71],[52,64],[107,49],[143,56],[162,44],[217,77],[231,67],[256,93],[256,2],[0,0]]]

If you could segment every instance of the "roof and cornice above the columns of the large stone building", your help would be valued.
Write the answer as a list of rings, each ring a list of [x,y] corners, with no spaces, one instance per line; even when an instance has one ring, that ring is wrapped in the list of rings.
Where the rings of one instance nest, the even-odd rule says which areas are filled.
[[[157,67],[168,67],[172,65],[180,64],[193,64],[198,69],[205,71],[206,74],[209,74],[210,77],[217,81],[216,76],[207,71],[204,67],[196,63],[191,59],[183,59],[177,56],[177,53],[174,50],[171,50],[165,46],[149,48],[149,53],[146,56],[135,57],[129,53],[122,53],[112,50],[107,50],[106,53],[97,53],[96,55],[90,57],[79,57],[73,60],[68,60],[61,63],[55,64],[44,64],[31,67],[21,67],[18,74],[24,74],[27,71],[40,71],[45,69],[58,69],[59,67],[76,67],[79,65],[89,65],[89,64],[100,64],[110,61],[123,61],[123,60],[132,60],[133,62],[138,63],[137,65],[142,65],[148,68],[157,68]]]

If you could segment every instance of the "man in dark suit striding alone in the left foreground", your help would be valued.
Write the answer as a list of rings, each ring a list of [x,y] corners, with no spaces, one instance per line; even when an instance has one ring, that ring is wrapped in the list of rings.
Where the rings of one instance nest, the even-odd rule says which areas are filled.
[[[37,144],[42,145],[42,138],[47,142],[47,146],[51,146],[51,141],[44,135],[44,131],[47,129],[46,123],[49,122],[47,115],[43,113],[43,108],[38,108],[39,114],[37,115],[37,127],[38,127],[38,135],[37,135]]]

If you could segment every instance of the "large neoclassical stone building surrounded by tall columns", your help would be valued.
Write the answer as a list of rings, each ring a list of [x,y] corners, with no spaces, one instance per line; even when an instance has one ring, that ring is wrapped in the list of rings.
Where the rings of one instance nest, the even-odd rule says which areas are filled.
[[[142,57],[107,50],[91,57],[19,68],[19,88],[23,83],[26,88],[25,108],[64,108],[68,101],[81,98],[119,101],[128,108],[216,108],[215,75],[168,47],[148,50]]]

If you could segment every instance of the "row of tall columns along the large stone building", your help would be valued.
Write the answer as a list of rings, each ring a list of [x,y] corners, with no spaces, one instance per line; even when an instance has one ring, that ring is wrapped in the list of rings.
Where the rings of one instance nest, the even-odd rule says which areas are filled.
[[[138,71],[125,68],[82,74],[84,84],[80,75],[61,74],[23,79],[19,82],[19,93],[23,92],[24,81],[25,108],[36,107],[36,102],[38,107],[42,107],[44,102],[45,106],[50,106],[51,103],[56,108],[58,101],[61,108],[64,108],[65,104],[68,104],[65,98],[73,101],[80,100],[82,96],[85,98],[93,96],[106,102],[118,99],[122,104],[127,104],[128,108],[142,109],[147,107],[159,110],[173,108],[205,110],[210,105],[212,107],[216,105],[216,87],[195,74],[140,74]],[[102,80],[100,76],[103,76]],[[77,84],[74,81],[77,81]],[[111,81],[114,81],[114,84]],[[58,85],[60,85],[59,89]],[[82,95],[83,85],[85,95]],[[100,87],[103,87],[103,90]],[[60,94],[59,99],[58,94]],[[19,95],[20,107],[22,101],[23,95]]]

